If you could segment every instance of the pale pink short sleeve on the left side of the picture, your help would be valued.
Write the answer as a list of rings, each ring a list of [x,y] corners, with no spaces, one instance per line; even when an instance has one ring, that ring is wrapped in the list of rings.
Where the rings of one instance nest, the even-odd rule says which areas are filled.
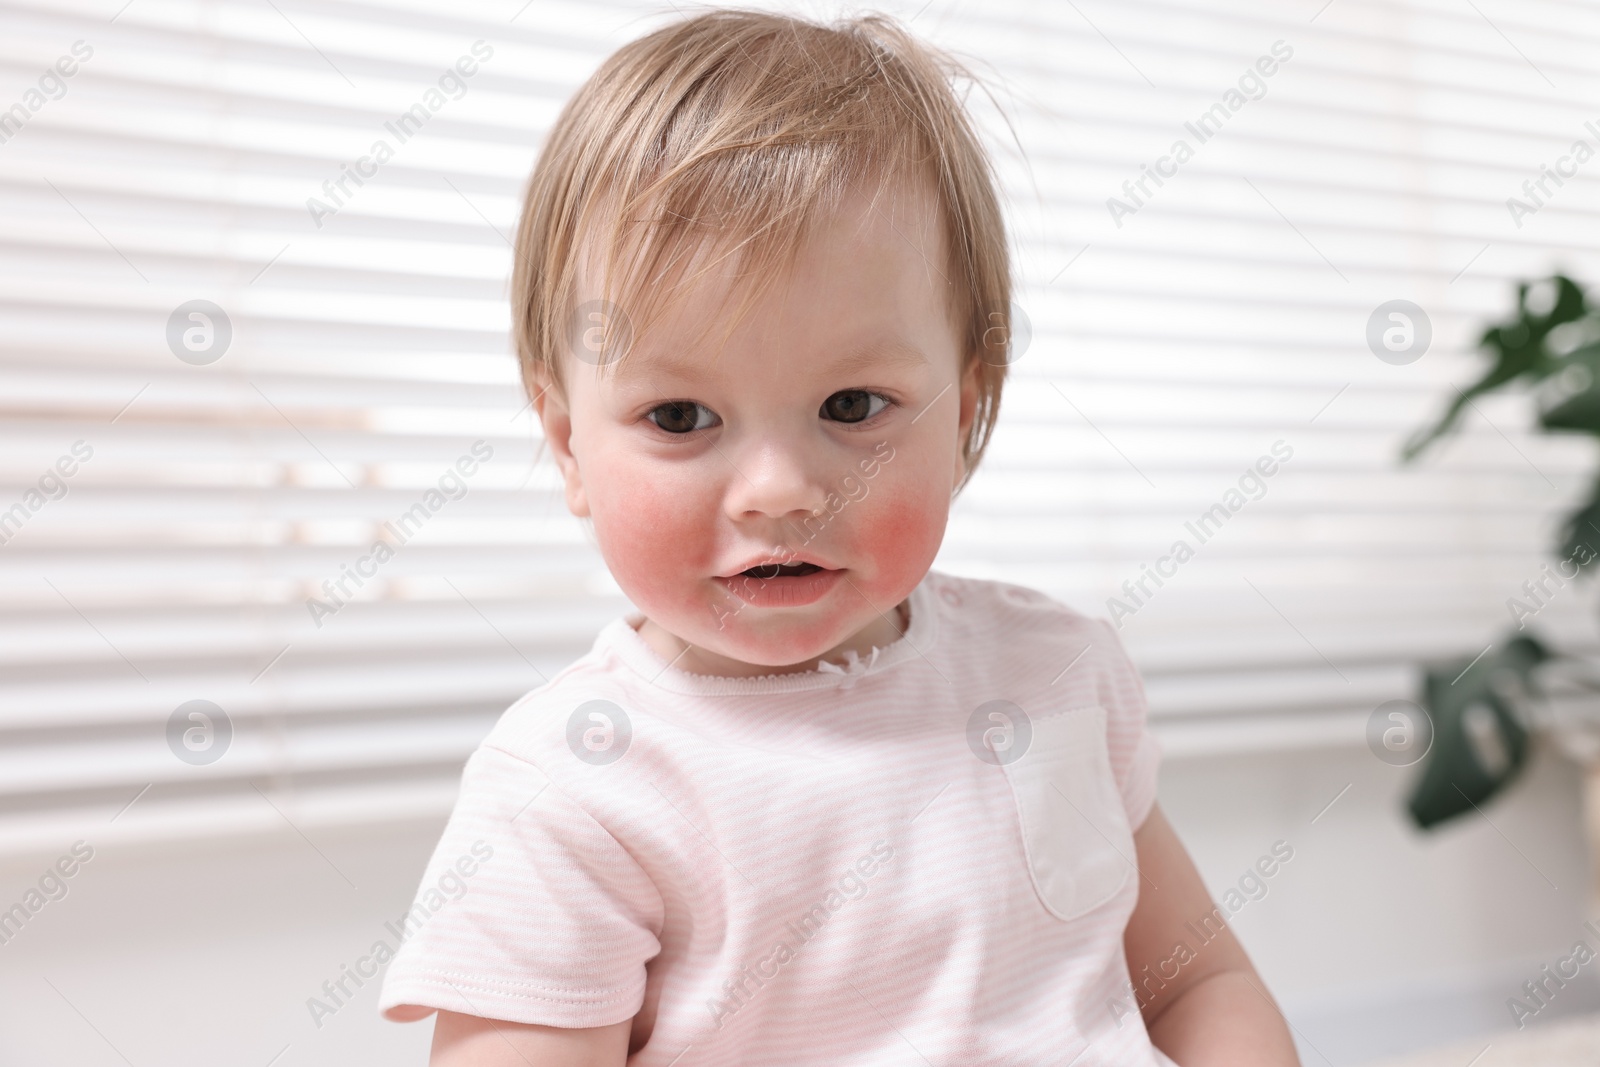
[[[398,952],[378,1008],[621,1022],[643,1003],[661,917],[654,883],[603,825],[538,766],[483,745],[416,902],[386,928]]]

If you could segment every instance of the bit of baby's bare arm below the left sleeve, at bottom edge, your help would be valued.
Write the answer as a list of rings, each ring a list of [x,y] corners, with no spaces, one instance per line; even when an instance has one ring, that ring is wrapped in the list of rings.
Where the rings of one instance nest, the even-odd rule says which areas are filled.
[[[622,1067],[632,1019],[565,1029],[440,1011],[429,1067]]]

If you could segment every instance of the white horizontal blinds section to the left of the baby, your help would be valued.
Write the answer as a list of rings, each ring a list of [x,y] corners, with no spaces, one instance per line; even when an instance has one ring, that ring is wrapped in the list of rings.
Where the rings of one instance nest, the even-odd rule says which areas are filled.
[[[506,306],[542,130],[616,42],[549,3],[117,6],[0,5],[6,106],[88,53],[0,144],[0,849],[443,811],[624,606]],[[214,362],[203,307],[168,342],[190,301]],[[226,718],[184,761],[190,701]]]

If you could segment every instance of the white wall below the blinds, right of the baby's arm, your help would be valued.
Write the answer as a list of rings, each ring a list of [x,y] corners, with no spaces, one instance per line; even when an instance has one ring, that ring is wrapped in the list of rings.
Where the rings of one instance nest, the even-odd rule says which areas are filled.
[[[1294,848],[1234,928],[1307,1067],[1504,1030],[1506,998],[1582,936],[1590,857],[1573,763],[1541,747],[1483,816],[1427,833],[1402,808],[1414,771],[1365,747],[1165,765],[1162,806],[1213,896],[1272,841]],[[1563,990],[1531,1025],[1581,1009],[1600,1009],[1600,984]]]

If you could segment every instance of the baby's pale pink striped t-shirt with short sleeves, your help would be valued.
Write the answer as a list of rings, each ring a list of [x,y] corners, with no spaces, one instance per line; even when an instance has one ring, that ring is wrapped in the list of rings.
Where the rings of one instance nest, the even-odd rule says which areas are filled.
[[[379,1008],[634,1019],[632,1067],[1171,1064],[1122,945],[1160,757],[1115,630],[939,573],[909,606],[758,678],[606,625],[467,760]]]

